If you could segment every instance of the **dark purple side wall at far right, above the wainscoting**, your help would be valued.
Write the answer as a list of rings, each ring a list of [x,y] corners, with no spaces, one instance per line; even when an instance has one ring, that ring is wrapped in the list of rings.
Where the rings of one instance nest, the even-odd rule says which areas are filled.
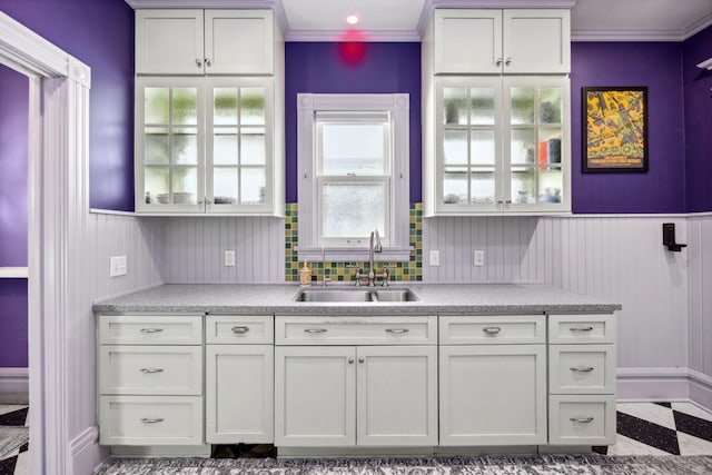
[[[686,211],[712,211],[712,71],[695,65],[712,58],[712,27],[683,44]]]

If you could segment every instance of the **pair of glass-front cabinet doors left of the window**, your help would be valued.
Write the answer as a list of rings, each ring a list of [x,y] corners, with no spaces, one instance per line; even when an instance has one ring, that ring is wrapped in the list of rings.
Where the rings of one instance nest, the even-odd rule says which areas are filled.
[[[268,215],[274,83],[138,78],[136,210]]]

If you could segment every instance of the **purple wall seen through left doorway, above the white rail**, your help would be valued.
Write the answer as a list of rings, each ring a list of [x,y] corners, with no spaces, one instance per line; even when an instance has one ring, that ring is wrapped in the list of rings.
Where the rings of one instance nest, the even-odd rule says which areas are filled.
[[[0,267],[27,267],[28,95],[27,77],[0,65]]]

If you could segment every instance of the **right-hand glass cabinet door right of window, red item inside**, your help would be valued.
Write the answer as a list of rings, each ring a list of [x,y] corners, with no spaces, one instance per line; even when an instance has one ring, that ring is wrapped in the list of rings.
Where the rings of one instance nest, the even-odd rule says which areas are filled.
[[[504,208],[567,211],[568,79],[504,79]]]

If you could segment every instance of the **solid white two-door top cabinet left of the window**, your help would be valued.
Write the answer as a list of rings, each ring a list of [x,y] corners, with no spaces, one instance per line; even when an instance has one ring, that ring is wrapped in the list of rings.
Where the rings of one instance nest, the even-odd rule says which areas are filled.
[[[136,10],[137,75],[274,75],[271,10]]]

